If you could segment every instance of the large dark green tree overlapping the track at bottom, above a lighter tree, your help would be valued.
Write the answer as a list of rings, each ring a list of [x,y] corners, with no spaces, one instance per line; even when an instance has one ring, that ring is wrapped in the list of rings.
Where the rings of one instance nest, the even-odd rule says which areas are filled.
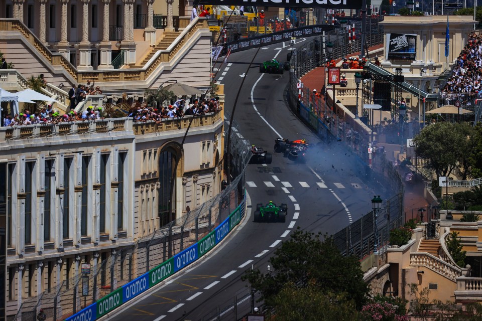
[[[248,270],[243,279],[261,292],[262,299],[270,307],[276,305],[276,296],[291,282],[300,288],[314,283],[319,284],[323,292],[345,293],[348,300],[361,308],[369,287],[363,281],[358,258],[342,256],[331,238],[321,239],[319,233],[295,231],[270,258],[270,272]]]

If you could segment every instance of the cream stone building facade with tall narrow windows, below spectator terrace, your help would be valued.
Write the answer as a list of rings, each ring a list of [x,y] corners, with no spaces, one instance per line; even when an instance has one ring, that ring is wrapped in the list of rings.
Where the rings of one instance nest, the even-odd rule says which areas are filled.
[[[139,264],[136,240],[219,193],[222,111],[196,116],[183,139],[190,118],[0,128],[9,319],[30,305],[49,313],[55,305],[57,318],[81,308],[82,264],[99,271],[94,299],[127,282],[133,275],[108,267]]]

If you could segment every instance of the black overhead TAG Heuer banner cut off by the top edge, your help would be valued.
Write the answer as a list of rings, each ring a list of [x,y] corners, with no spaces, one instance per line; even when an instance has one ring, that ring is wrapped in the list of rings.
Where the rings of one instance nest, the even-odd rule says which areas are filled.
[[[361,0],[194,0],[199,5],[362,9]]]

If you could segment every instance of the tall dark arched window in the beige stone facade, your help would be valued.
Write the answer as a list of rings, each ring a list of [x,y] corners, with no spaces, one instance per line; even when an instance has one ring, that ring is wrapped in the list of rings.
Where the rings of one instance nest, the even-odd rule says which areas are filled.
[[[164,226],[176,219],[176,163],[178,157],[172,147],[164,149],[159,155],[159,219]],[[172,193],[172,195],[171,195]],[[172,200],[172,202],[170,202]],[[171,204],[172,203],[172,204]],[[171,207],[172,206],[172,207]]]

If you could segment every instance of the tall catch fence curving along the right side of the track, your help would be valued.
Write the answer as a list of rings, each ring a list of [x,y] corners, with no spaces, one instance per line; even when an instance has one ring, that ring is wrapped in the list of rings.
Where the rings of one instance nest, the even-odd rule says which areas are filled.
[[[330,34],[325,35],[325,38],[327,37],[333,38]],[[380,189],[384,190],[385,195],[391,195],[379,209],[377,217],[373,211],[369,212],[332,236],[336,246],[344,255],[356,255],[362,259],[375,249],[376,244],[379,251],[383,251],[388,243],[390,230],[401,226],[405,221],[404,185],[399,171],[385,157],[383,147],[375,147],[373,153],[368,154],[369,143],[373,141],[373,137],[370,137],[371,132],[366,131],[346,113],[340,112],[336,106],[333,106],[333,102],[325,102],[321,96],[314,95],[306,86],[301,89],[301,97],[299,96],[300,91],[297,88],[299,79],[320,66],[320,61],[330,58],[327,52],[323,53],[321,50],[322,43],[322,37],[316,37],[293,51],[287,99],[291,108],[318,134],[328,141],[335,139],[344,143],[356,154],[360,163],[366,167],[366,179],[377,184],[383,182]],[[367,43],[368,46],[383,43],[383,33],[370,33],[367,35]],[[354,45],[355,50],[358,51],[360,42],[356,41]],[[345,56],[345,49],[344,43],[335,41],[331,57],[337,59]]]

